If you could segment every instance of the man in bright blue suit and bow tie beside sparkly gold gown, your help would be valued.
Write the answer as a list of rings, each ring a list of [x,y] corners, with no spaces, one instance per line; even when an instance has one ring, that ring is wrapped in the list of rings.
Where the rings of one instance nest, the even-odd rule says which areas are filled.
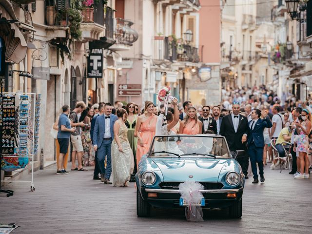
[[[97,117],[93,131],[94,150],[98,151],[98,163],[101,170],[101,181],[105,184],[112,184],[109,180],[112,173],[111,147],[114,139],[114,123],[118,119],[112,114],[113,106],[111,103],[104,105],[104,115]],[[106,170],[104,161],[106,159]]]

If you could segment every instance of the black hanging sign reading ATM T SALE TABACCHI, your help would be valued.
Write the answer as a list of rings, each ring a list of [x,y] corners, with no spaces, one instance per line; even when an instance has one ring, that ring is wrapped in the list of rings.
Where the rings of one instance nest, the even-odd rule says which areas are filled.
[[[90,48],[88,57],[88,78],[101,78],[103,75],[103,49]]]

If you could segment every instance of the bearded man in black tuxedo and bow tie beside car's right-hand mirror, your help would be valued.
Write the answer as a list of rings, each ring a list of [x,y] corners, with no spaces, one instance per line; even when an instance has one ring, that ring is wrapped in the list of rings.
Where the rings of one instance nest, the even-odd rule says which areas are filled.
[[[246,141],[249,133],[247,117],[239,114],[239,102],[233,102],[232,114],[226,115],[222,119],[220,135],[224,136],[228,142],[230,151],[245,150]],[[247,177],[248,156],[238,158],[244,175]]]

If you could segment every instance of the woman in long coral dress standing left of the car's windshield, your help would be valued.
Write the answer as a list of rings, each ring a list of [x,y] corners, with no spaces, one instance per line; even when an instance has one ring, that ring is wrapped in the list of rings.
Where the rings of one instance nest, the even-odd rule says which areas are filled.
[[[154,103],[145,103],[144,114],[137,118],[135,137],[137,137],[137,165],[143,155],[145,155],[151,145],[156,131],[157,116],[153,114]]]

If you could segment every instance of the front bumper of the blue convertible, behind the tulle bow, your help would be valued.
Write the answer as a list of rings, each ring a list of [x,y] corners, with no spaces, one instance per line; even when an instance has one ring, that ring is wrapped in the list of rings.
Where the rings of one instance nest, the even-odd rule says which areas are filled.
[[[177,189],[149,189],[140,188],[143,200],[152,206],[161,208],[181,208],[179,205],[180,191]],[[243,187],[235,189],[210,189],[199,190],[205,198],[203,208],[224,208],[233,205],[243,195]],[[156,194],[150,197],[149,194]],[[235,197],[228,197],[228,194],[235,194]]]

